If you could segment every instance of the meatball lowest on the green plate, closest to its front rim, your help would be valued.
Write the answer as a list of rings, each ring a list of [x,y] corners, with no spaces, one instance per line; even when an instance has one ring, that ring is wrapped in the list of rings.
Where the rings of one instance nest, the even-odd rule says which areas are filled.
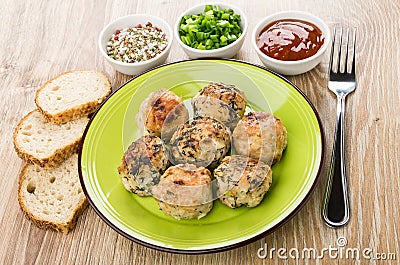
[[[168,168],[153,189],[160,210],[176,219],[200,219],[213,207],[211,173],[204,167],[180,164]]]

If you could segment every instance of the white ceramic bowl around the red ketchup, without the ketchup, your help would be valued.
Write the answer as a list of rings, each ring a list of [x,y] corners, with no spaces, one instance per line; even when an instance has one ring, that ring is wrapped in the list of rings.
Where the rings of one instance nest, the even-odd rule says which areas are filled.
[[[324,44],[313,56],[297,61],[282,61],[267,56],[257,47],[257,37],[266,25],[276,20],[290,18],[311,22],[322,31],[322,35],[325,38]],[[297,75],[311,70],[321,62],[325,51],[331,43],[331,32],[328,25],[317,16],[302,11],[284,11],[274,13],[262,19],[253,30],[251,43],[257,51],[258,57],[266,67],[284,75]]]

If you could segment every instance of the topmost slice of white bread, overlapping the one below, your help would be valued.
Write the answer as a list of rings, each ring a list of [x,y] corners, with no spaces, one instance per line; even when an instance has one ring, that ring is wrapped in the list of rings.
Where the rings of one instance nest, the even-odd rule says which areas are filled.
[[[71,71],[49,80],[36,92],[35,103],[52,123],[88,115],[111,93],[107,76],[100,71]]]

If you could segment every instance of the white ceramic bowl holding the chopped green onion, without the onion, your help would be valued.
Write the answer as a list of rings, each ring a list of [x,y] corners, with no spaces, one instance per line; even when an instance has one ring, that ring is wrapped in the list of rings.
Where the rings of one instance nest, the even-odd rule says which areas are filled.
[[[181,22],[181,19],[185,15],[196,15],[196,14],[201,14],[204,13],[204,7],[206,5],[215,5],[219,6],[221,9],[232,9],[236,14],[240,15],[240,22],[239,25],[242,29],[242,35],[240,37],[232,42],[231,44],[218,48],[218,49],[213,49],[213,50],[200,50],[200,49],[195,49],[192,48],[185,43],[181,41],[181,38],[179,36],[179,25]],[[183,12],[180,16],[178,16],[178,20],[175,23],[174,27],[174,33],[175,33],[175,38],[177,39],[179,45],[182,47],[184,52],[189,56],[191,59],[198,59],[198,58],[232,58],[233,56],[236,55],[236,53],[240,50],[240,48],[243,45],[243,41],[247,32],[247,18],[245,14],[243,13],[242,10],[240,10],[238,7],[233,6],[231,4],[227,3],[218,3],[218,2],[208,2],[208,3],[203,3],[197,6],[194,6],[185,12]]]

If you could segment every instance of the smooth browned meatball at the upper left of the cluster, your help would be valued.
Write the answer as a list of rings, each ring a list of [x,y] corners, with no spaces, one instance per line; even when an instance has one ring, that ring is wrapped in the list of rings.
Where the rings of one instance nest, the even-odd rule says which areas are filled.
[[[140,105],[137,124],[150,135],[169,140],[179,125],[189,119],[182,99],[172,91],[162,89],[151,93]]]

